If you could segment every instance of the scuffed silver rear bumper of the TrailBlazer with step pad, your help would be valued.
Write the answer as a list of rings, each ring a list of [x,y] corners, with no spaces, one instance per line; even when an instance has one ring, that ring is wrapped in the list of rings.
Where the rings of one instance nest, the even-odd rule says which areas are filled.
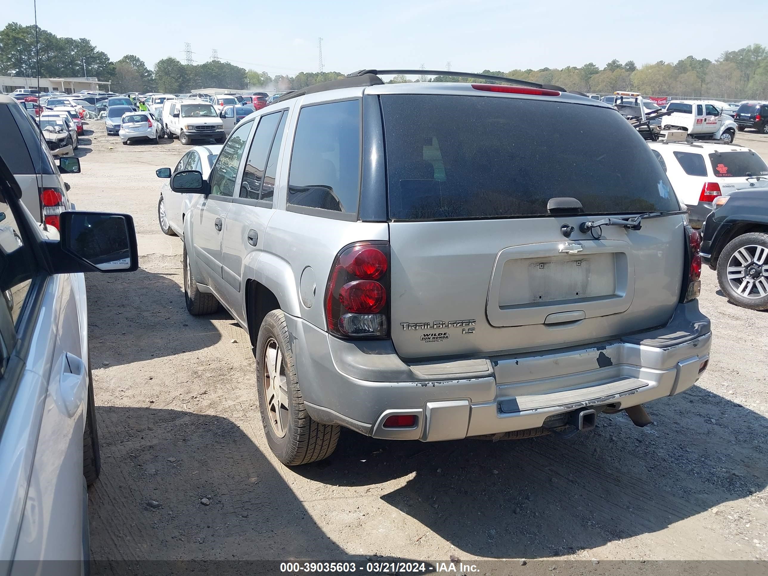
[[[313,419],[425,442],[538,428],[585,406],[625,409],[674,396],[699,379],[712,337],[694,300],[664,328],[588,347],[409,365],[391,342],[344,342],[288,320]],[[385,428],[395,414],[415,415],[416,425]]]

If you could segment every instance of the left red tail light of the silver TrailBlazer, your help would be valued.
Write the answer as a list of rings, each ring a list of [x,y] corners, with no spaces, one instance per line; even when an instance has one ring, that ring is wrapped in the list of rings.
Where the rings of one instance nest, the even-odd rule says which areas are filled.
[[[389,243],[358,242],[336,256],[326,286],[326,322],[343,338],[389,333]]]

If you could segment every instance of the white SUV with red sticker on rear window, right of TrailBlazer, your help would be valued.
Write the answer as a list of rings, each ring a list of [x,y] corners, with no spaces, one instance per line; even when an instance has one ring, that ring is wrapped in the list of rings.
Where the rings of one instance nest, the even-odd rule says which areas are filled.
[[[713,202],[737,190],[758,187],[768,193],[766,163],[750,148],[715,142],[648,142],[662,163],[677,198],[688,207],[690,225],[700,228]]]

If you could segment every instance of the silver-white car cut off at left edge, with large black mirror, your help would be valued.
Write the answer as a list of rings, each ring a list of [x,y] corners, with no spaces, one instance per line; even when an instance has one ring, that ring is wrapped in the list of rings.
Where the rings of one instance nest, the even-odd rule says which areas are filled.
[[[101,458],[82,273],[136,270],[136,235],[124,214],[67,211],[61,234],[41,228],[7,158],[4,149],[0,212],[15,241],[0,241],[0,558],[9,574],[27,563],[88,574],[86,488]]]

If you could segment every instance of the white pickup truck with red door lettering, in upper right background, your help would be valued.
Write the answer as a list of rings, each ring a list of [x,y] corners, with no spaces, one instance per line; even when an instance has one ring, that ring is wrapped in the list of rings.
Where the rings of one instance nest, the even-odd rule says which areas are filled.
[[[721,140],[730,144],[736,137],[737,125],[723,109],[713,102],[701,100],[673,100],[667,104],[667,117],[662,118],[662,129],[684,130],[698,140]]]

